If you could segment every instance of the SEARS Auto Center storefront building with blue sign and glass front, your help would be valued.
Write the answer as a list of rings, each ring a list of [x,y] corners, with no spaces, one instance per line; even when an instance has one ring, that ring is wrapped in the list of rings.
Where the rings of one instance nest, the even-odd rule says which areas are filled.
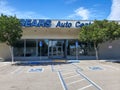
[[[92,43],[80,42],[80,27],[93,21],[21,19],[23,36],[14,47],[15,60],[52,60],[52,59],[95,59]],[[118,41],[102,45],[101,58],[108,57]],[[10,59],[7,45],[0,44],[0,57]],[[119,51],[118,51],[119,52]],[[119,55],[115,57],[119,58]]]

